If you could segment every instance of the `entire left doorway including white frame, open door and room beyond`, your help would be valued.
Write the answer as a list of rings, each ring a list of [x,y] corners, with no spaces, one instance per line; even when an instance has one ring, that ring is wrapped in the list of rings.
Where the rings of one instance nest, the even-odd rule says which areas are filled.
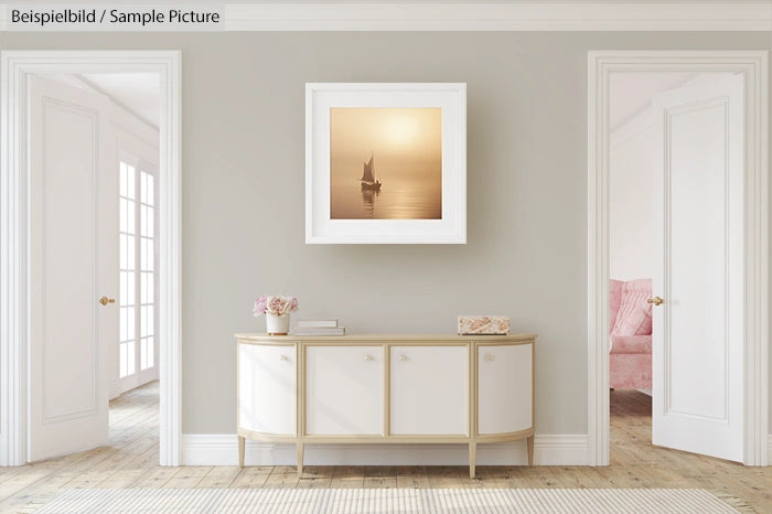
[[[3,329],[29,330],[1,339],[0,464],[144,435],[178,465],[180,53],[8,51],[2,71]]]

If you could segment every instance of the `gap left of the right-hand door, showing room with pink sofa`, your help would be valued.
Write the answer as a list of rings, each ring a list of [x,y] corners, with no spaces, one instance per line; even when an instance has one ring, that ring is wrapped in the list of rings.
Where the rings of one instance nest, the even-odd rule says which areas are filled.
[[[694,73],[614,73],[609,135],[609,385],[611,460],[652,443],[656,98]],[[698,141],[696,141],[698,142]],[[641,442],[644,442],[643,445]]]

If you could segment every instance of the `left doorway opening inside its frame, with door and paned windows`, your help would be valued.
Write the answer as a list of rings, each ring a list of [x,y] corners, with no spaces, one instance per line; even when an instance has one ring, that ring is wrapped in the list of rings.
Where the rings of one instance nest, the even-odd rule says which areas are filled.
[[[39,461],[121,446],[151,419],[136,432],[158,433],[158,413],[127,415],[121,396],[158,408],[160,83],[89,73],[31,74],[29,85],[29,459]]]

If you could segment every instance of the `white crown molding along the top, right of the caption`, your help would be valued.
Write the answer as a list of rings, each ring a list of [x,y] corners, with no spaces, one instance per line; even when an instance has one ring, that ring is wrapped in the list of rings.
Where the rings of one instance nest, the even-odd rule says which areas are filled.
[[[260,2],[225,6],[228,31],[770,31],[759,1]]]

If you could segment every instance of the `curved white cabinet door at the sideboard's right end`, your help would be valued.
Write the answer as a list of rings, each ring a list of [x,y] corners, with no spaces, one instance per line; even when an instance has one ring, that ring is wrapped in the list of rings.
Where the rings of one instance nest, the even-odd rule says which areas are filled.
[[[530,344],[478,347],[478,433],[533,425],[532,352]]]

